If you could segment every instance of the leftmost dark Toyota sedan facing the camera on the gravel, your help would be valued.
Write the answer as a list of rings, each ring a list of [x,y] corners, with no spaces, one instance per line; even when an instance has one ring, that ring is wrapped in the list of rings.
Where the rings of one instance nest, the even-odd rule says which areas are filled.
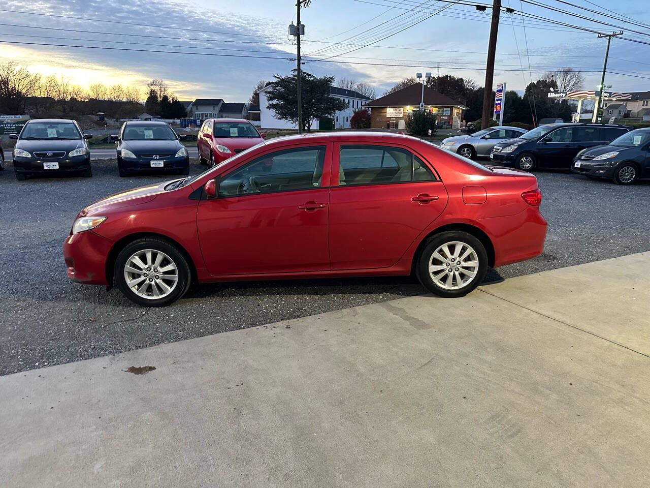
[[[90,151],[86,139],[92,134],[83,134],[74,120],[63,118],[42,118],[28,120],[14,146],[14,172],[16,180],[25,180],[31,174],[81,173],[92,176]]]

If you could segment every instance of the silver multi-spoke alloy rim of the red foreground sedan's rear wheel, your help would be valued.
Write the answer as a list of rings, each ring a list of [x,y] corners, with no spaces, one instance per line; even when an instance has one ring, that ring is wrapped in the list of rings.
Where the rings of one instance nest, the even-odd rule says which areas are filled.
[[[439,246],[429,259],[429,275],[445,290],[460,290],[478,273],[478,254],[464,242],[448,242]]]

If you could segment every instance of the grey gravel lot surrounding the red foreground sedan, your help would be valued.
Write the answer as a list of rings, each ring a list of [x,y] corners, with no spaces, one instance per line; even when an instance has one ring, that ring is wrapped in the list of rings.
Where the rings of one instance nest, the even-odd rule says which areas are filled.
[[[164,179],[119,178],[115,160],[93,164],[92,179],[18,182],[10,161],[0,172],[0,374],[424,293],[410,278],[209,284],[168,308],[144,309],[116,289],[74,284],[62,243],[77,211]],[[203,168],[192,161],[193,174]],[[650,250],[649,183],[620,187],[552,172],[538,179],[549,221],[546,252],[500,268],[502,277]]]

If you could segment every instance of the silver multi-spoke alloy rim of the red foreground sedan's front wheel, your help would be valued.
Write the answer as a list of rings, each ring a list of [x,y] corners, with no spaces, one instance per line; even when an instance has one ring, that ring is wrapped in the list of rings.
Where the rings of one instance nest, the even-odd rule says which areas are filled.
[[[161,299],[176,288],[178,268],[174,260],[164,252],[142,249],[126,260],[124,280],[138,297]]]

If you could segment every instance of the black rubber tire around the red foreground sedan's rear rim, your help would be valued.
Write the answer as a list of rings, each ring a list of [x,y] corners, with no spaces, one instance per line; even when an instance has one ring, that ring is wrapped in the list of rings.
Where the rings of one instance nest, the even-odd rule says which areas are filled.
[[[434,252],[445,244],[449,246],[448,249],[450,250],[451,254],[454,254],[454,251],[456,251],[456,245],[460,244],[460,251],[458,251],[460,254],[459,257],[465,254],[465,251],[468,251],[468,249],[473,250],[473,254],[478,260],[478,265],[457,267],[454,265],[457,264],[454,262],[454,260],[457,258],[454,258],[453,256],[445,256],[444,254],[441,254],[441,256],[443,258],[446,258],[445,260],[435,258]],[[471,256],[472,254],[469,254],[467,257],[465,257],[465,259],[463,259],[463,263],[473,262],[469,260]],[[430,273],[430,262],[432,264],[435,263],[435,267],[442,267]],[[463,271],[463,269],[466,269],[467,272]],[[449,272],[449,270],[451,271]],[[484,245],[481,243],[481,241],[479,241],[471,234],[467,234],[467,232],[461,232],[458,230],[441,232],[440,234],[435,234],[435,236],[430,237],[420,252],[417,262],[415,263],[415,275],[422,283],[422,286],[427,288],[435,295],[446,298],[464,297],[467,295],[467,293],[474,290],[474,288],[476,288],[476,286],[482,282],[483,278],[486,275],[486,271],[487,252]],[[443,274],[440,275],[440,272]],[[436,275],[436,273],[438,274]],[[450,289],[440,286],[434,280],[434,277],[439,277],[439,279],[444,277],[445,280],[449,279],[447,278],[447,273],[452,275],[452,278],[450,278],[449,282]],[[470,276],[471,273],[474,273],[473,277]],[[454,283],[456,283],[456,286],[458,286],[458,277],[460,277],[461,287],[453,288]],[[463,282],[465,279],[467,279],[467,281]]]

